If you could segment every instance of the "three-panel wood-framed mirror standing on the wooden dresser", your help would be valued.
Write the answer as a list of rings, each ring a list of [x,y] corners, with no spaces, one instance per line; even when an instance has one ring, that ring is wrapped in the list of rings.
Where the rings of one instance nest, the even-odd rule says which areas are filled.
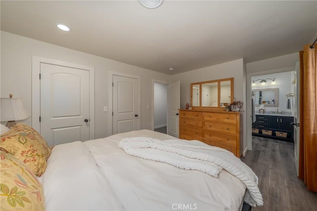
[[[233,78],[191,84],[193,107],[221,108],[233,102]]]

